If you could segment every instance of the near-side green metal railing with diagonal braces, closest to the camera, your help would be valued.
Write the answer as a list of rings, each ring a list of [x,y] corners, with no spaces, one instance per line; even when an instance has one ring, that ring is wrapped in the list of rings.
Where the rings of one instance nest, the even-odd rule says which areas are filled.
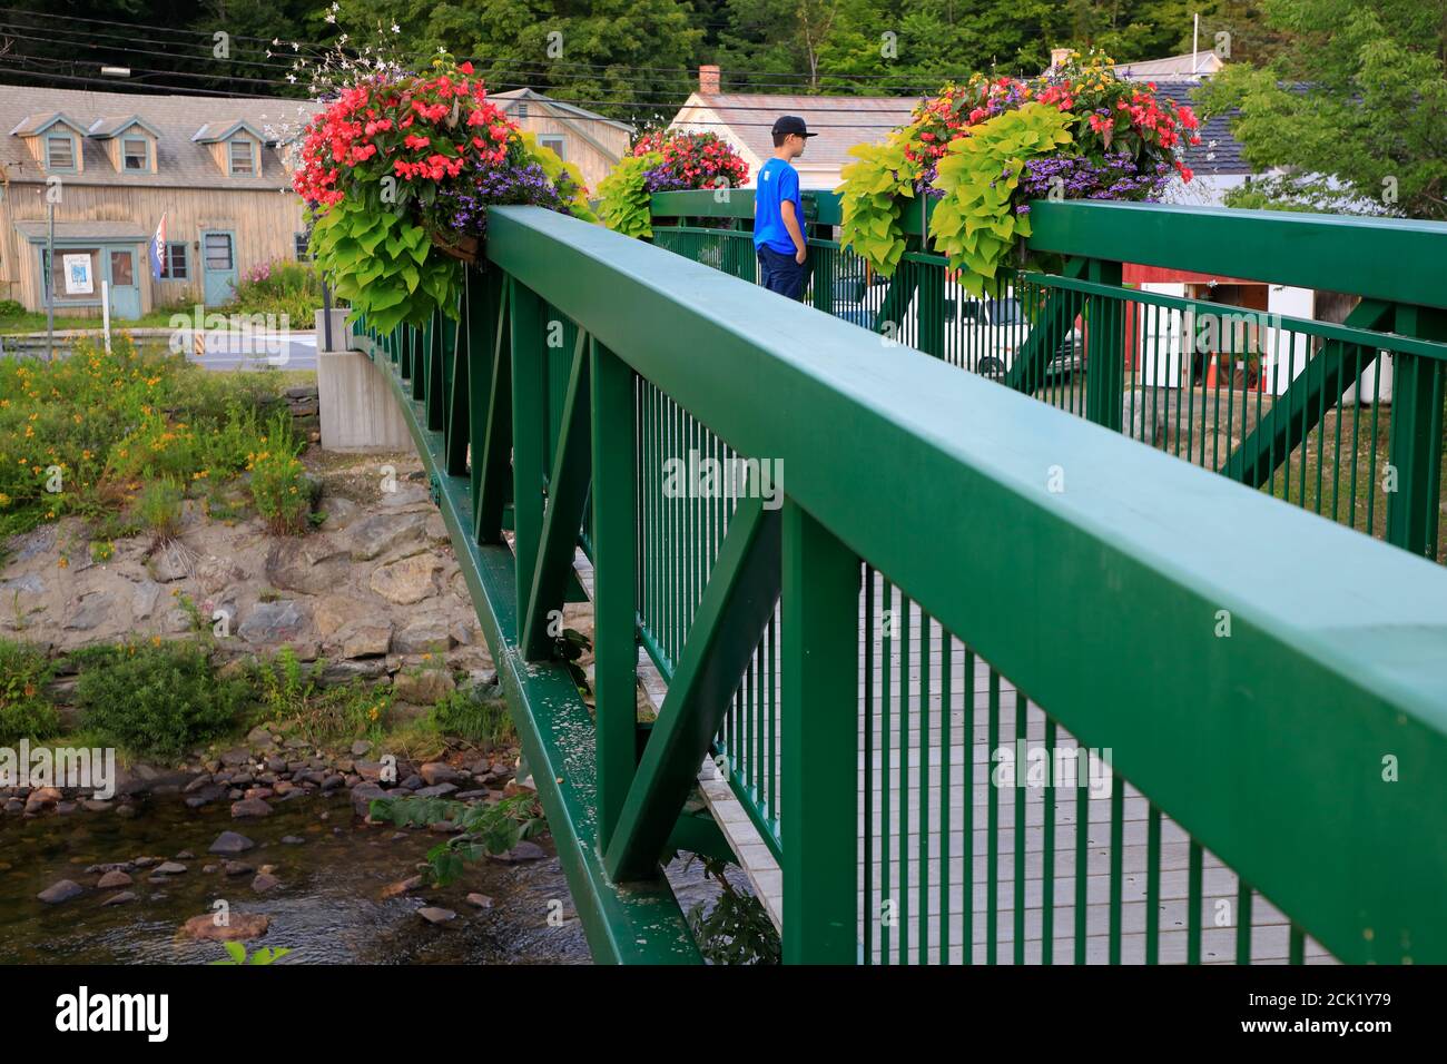
[[[596,957],[697,960],[658,861],[712,763],[786,961],[1447,958],[1438,566],[601,227],[495,208],[488,259],[366,339]]]

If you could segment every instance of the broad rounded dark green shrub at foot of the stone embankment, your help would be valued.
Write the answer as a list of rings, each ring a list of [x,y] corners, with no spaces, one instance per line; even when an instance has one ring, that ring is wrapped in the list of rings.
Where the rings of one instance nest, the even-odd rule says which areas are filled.
[[[87,654],[75,685],[84,727],[164,760],[230,731],[249,693],[243,680],[217,677],[195,643],[106,647]]]

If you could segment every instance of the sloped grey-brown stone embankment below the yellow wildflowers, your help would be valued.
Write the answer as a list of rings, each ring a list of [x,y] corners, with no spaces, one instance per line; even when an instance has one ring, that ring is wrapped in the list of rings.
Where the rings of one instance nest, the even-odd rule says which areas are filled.
[[[161,546],[137,534],[96,552],[81,518],[13,537],[0,569],[0,634],[59,656],[175,638],[200,620],[221,659],[287,647],[323,662],[324,685],[389,686],[404,715],[454,689],[457,676],[485,682],[492,659],[418,460],[313,450],[307,462],[318,518],[308,536],[269,536],[237,485],[187,499],[179,533]]]

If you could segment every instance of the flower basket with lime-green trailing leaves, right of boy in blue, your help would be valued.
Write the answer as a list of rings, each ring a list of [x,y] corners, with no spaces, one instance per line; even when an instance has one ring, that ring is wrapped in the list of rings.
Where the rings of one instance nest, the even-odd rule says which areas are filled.
[[[1030,235],[1027,200],[1152,201],[1172,177],[1191,181],[1192,110],[1111,64],[1074,52],[1035,81],[946,84],[888,140],[851,149],[841,243],[888,276],[906,249],[906,203],[936,200],[929,240],[981,294],[1000,288],[998,268]]]

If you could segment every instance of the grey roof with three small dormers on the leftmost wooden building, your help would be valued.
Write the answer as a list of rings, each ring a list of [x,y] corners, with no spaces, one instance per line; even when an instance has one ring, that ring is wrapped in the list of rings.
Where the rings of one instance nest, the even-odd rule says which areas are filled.
[[[72,185],[149,185],[161,188],[253,188],[289,185],[281,156],[262,149],[259,177],[230,177],[204,143],[192,142],[203,129],[247,123],[265,140],[294,135],[313,113],[307,100],[232,98],[214,96],[152,96],[143,93],[93,93],[77,88],[4,85],[0,88],[0,165],[13,182],[45,181],[45,171],[27,151],[20,133],[42,129],[64,117],[81,132],[97,130],[82,140],[82,174],[65,175]],[[122,116],[117,119],[117,116]],[[156,135],[156,174],[119,174],[103,143],[107,123],[139,119]],[[9,130],[16,135],[6,135]],[[113,135],[113,133],[111,133]]]

